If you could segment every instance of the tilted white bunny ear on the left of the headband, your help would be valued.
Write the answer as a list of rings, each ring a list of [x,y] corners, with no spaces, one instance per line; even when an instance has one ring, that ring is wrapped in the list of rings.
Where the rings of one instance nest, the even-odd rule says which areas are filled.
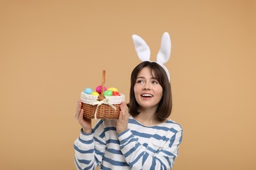
[[[133,35],[135,50],[141,61],[150,61],[150,48],[138,35]]]

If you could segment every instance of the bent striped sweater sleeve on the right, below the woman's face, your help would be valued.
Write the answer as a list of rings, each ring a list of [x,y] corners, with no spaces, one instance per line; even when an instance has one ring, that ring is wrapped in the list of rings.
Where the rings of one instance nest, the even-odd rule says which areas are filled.
[[[165,144],[140,144],[131,130],[118,135],[121,152],[132,169],[171,169],[182,141],[182,129],[175,131]]]

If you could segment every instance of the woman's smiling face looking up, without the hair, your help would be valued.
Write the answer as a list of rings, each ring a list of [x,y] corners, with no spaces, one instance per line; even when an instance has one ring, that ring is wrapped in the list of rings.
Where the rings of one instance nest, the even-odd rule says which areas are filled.
[[[138,74],[134,86],[135,99],[141,109],[157,109],[163,96],[163,88],[152,75],[148,67],[144,67]]]

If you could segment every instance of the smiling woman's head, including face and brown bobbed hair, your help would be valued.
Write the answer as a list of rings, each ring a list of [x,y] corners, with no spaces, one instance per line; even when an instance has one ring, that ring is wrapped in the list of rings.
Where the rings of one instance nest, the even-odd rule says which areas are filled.
[[[165,71],[156,62],[144,61],[135,67],[131,73],[130,88],[130,113],[133,116],[142,112],[143,106],[147,103],[152,105],[151,107],[154,106],[156,120],[161,122],[170,116],[171,85],[167,75],[163,73]],[[142,94],[150,94],[152,97],[146,100],[146,97],[141,96]]]

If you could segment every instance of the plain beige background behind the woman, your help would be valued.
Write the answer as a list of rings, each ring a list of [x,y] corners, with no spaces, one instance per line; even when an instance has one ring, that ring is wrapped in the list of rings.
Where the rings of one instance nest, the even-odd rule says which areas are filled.
[[[129,95],[137,58],[171,35],[173,169],[256,169],[255,1],[1,1],[0,169],[75,169],[80,92]]]

